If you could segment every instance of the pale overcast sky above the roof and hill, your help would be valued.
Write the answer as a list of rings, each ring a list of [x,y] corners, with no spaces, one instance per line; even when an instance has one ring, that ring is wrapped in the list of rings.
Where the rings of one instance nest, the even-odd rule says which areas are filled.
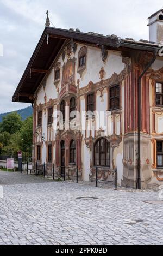
[[[29,105],[11,99],[45,28],[47,9],[55,27],[140,40],[148,39],[147,18],[162,5],[161,0],[0,0],[0,113]]]

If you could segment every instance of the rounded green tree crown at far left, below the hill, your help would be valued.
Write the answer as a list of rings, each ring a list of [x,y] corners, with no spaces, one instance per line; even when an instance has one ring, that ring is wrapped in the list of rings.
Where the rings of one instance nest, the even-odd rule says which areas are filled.
[[[3,117],[1,124],[2,132],[8,132],[14,134],[18,132],[22,127],[21,116],[17,112],[13,112]]]

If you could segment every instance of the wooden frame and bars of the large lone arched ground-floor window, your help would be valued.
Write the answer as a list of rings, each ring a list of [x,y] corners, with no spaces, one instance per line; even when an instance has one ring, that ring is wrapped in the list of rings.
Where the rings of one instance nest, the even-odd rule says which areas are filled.
[[[104,151],[101,151],[100,148],[101,148],[101,141],[104,140]],[[98,146],[98,142],[99,142],[99,146]],[[108,146],[108,152],[106,151],[106,146]],[[99,152],[96,152],[96,147],[98,147],[98,151]],[[98,153],[98,160],[99,160],[99,164],[97,164],[97,159],[96,159],[96,153]],[[106,158],[106,154],[109,153],[109,159]],[[101,159],[101,155],[104,154],[104,162],[105,164],[102,165],[101,162],[102,162],[102,159]],[[106,161],[109,161],[109,165],[106,165]],[[97,167],[106,167],[106,168],[110,168],[110,143],[109,141],[102,137],[102,138],[99,138],[96,142],[95,142],[95,145],[94,145],[94,165],[97,166]]]

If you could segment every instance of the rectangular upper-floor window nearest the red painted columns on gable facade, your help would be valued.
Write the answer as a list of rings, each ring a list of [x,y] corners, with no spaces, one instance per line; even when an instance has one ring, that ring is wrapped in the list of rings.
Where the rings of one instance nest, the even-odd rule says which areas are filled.
[[[110,110],[120,108],[120,86],[110,88]]]

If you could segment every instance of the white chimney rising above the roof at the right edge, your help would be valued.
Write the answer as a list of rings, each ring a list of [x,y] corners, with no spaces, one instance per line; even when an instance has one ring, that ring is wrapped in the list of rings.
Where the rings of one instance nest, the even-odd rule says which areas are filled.
[[[163,9],[156,11],[148,18],[149,41],[152,43],[163,44]]]

